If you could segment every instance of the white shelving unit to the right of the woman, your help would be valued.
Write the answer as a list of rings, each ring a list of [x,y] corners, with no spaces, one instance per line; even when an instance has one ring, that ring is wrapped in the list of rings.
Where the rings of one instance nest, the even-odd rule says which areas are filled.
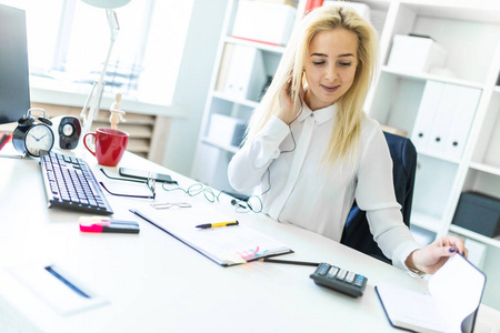
[[[446,50],[453,78],[392,69],[388,59],[396,34],[430,36]],[[500,236],[489,238],[452,224],[460,194],[476,191],[500,199],[500,3],[493,1],[392,1],[380,49],[381,69],[367,110],[381,124],[411,135],[429,80],[481,91],[464,151],[459,159],[418,151],[411,224],[434,236],[447,233],[484,248],[483,271],[500,279]],[[500,309],[500,289],[487,284],[487,304]]]

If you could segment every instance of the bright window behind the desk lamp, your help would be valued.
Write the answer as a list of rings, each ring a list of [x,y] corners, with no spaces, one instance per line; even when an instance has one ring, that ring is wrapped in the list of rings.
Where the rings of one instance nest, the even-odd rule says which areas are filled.
[[[90,92],[110,43],[104,9],[80,0],[0,0],[26,9],[30,73]],[[116,9],[118,32],[104,92],[170,104],[193,0],[132,0]],[[39,80],[32,80],[39,81]]]

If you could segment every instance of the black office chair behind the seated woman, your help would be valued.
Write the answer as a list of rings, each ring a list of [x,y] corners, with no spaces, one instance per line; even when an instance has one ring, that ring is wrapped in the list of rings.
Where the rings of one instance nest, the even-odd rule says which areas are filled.
[[[392,158],[392,176],[396,200],[401,204],[404,224],[410,226],[411,203],[413,200],[414,174],[417,169],[417,150],[410,139],[383,133]],[[368,225],[364,211],[353,203],[343,229],[340,242],[352,249],[377,258],[388,264],[391,260],[383,255]]]

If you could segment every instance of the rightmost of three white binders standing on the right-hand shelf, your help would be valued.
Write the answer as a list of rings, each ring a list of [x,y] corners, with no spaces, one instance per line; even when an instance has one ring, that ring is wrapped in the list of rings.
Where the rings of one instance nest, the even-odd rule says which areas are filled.
[[[450,122],[450,133],[444,143],[444,157],[450,159],[460,159],[462,157],[470,125],[474,119],[476,109],[481,97],[480,89],[461,87],[460,90],[460,94],[457,95],[457,109]]]

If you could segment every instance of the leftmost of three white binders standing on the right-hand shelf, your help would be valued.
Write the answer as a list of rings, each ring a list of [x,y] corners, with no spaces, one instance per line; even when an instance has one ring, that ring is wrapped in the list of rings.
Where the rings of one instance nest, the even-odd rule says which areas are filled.
[[[420,152],[426,150],[429,142],[431,127],[438,113],[443,87],[444,83],[427,81],[426,88],[423,89],[419,112],[411,132],[411,142],[413,142]]]

